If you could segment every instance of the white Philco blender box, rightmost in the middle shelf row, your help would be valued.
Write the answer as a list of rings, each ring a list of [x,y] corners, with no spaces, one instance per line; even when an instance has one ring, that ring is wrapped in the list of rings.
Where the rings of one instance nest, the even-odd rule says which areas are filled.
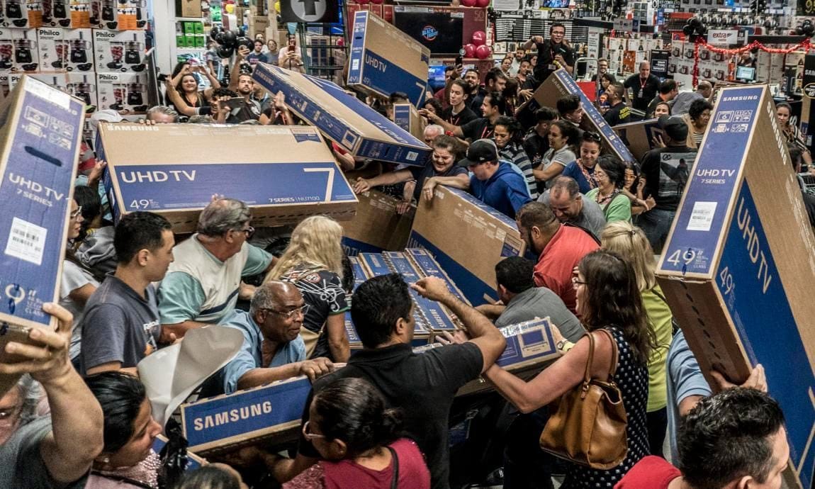
[[[143,72],[144,32],[94,29],[94,57],[99,72]]]

